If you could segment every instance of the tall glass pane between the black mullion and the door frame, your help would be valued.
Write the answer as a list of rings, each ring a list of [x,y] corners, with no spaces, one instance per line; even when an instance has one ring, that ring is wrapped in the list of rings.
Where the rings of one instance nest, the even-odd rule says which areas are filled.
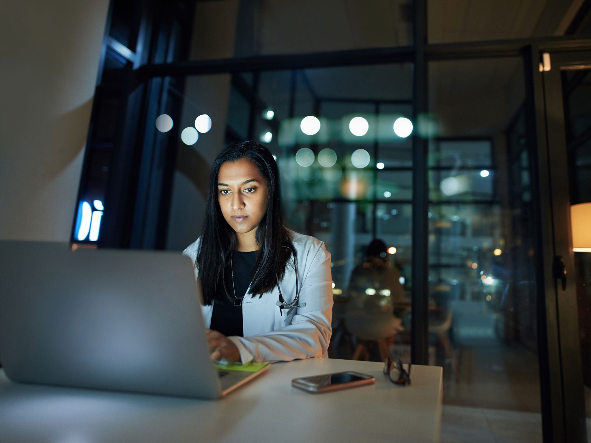
[[[428,331],[443,401],[501,409],[541,439],[522,66],[442,61],[429,73],[441,132],[428,154]]]

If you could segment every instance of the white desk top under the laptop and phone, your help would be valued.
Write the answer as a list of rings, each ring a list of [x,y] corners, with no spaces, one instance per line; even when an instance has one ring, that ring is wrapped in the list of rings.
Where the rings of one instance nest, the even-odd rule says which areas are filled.
[[[273,364],[225,399],[165,396],[10,382],[1,373],[0,440],[439,441],[441,367],[413,366],[397,386],[383,363],[333,359]],[[375,385],[323,394],[291,387],[294,377],[356,370]]]

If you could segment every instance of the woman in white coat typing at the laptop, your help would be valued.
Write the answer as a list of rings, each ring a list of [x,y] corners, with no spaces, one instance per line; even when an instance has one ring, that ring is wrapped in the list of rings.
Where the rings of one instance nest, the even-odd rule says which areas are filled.
[[[327,356],[330,253],[283,226],[279,171],[267,148],[242,142],[217,156],[201,234],[183,253],[202,287],[212,360]]]

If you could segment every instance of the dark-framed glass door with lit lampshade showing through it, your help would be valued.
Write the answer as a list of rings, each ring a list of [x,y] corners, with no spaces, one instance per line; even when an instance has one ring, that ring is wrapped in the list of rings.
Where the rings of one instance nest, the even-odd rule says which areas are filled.
[[[591,254],[574,252],[573,248],[591,251],[587,244],[591,230],[591,52],[543,53],[539,70],[544,106],[537,106],[536,114],[539,117],[543,109],[546,131],[545,140],[538,138],[538,146],[545,143],[547,149],[546,189],[553,234],[551,244],[545,240],[544,251],[553,254],[551,279],[545,286],[548,369],[555,380],[550,382],[555,400],[553,425],[560,426],[555,420],[562,415],[566,441],[587,441],[591,422],[585,418],[591,417],[589,407],[585,414],[591,386]],[[541,104],[538,97],[537,105]],[[543,187],[543,181],[540,185]],[[552,286],[548,283],[554,287],[548,289]],[[561,389],[554,385],[558,380]]]

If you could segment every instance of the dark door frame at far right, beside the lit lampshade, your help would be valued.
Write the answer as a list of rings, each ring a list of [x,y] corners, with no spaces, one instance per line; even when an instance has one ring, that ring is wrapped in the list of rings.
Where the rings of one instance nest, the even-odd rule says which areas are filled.
[[[550,63],[545,65],[548,70],[541,70],[544,51],[533,44],[524,48],[532,192],[538,214],[534,260],[544,441],[587,441],[561,84],[562,70],[591,66],[591,47],[582,49],[586,50],[545,52]],[[567,271],[564,288],[556,268],[558,256]]]

